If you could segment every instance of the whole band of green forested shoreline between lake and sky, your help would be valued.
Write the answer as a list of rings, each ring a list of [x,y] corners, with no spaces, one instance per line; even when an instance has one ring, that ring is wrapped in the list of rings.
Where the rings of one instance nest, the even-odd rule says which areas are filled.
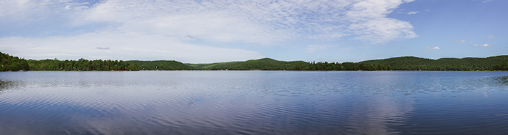
[[[508,71],[508,56],[488,58],[396,57],[362,62],[279,61],[184,64],[174,60],[25,60],[0,52],[1,71],[139,71],[139,70],[266,70],[266,71]]]

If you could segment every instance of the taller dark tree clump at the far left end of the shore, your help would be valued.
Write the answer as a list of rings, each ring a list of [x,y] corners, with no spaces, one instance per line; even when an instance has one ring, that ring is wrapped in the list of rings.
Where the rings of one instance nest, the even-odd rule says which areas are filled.
[[[10,56],[8,53],[0,52],[0,71],[27,71],[30,66],[24,58]]]

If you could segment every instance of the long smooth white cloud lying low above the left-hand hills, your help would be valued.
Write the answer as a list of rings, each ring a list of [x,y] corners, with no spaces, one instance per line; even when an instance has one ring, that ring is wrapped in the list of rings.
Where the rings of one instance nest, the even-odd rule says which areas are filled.
[[[129,39],[129,40],[126,40]],[[178,60],[181,62],[226,62],[264,58],[243,49],[211,47],[181,42],[177,38],[100,32],[49,38],[0,38],[2,51],[28,59],[78,60]],[[108,45],[108,47],[104,47]],[[102,47],[97,47],[102,46]],[[110,49],[108,49],[110,48]]]

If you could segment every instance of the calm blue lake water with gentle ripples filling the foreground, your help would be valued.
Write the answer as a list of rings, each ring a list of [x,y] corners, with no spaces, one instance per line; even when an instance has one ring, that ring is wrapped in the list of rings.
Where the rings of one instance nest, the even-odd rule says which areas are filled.
[[[508,134],[508,72],[0,73],[0,134]]]

